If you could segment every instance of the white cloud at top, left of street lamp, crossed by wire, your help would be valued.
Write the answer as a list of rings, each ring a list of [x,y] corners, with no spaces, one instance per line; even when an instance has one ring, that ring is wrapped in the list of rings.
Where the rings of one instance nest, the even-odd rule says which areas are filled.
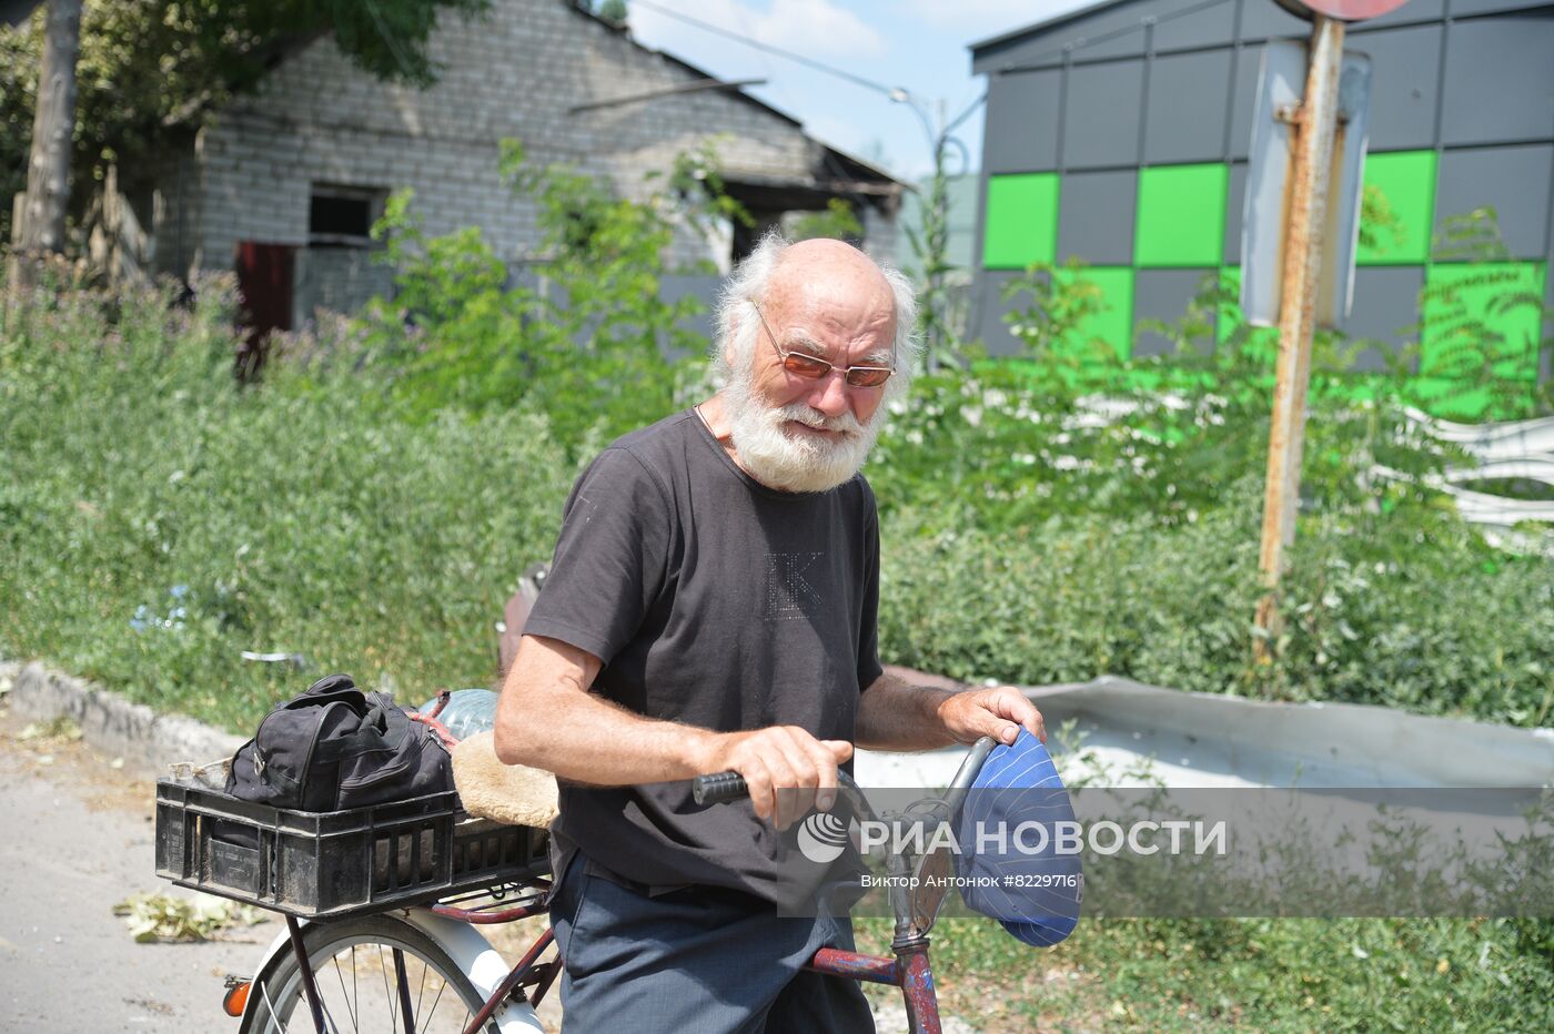
[[[765,9],[729,0],[654,0],[654,6],[807,57],[878,57],[887,50],[878,29],[833,0],[772,0]],[[706,37],[695,26],[643,5],[634,3],[629,9],[632,34],[653,47],[673,53],[676,40],[690,34]],[[732,40],[729,45],[738,47]]]

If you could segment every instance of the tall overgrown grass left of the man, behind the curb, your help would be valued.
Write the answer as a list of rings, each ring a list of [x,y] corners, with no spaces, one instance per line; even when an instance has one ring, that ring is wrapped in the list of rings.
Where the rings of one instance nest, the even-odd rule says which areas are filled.
[[[0,649],[232,730],[329,671],[407,702],[486,685],[573,474],[544,422],[412,427],[343,382],[239,390],[227,297],[202,298],[62,293],[6,326]]]

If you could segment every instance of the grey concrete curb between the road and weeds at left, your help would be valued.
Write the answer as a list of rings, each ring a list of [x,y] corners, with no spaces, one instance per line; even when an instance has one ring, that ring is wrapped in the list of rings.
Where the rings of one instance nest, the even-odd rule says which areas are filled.
[[[143,703],[131,703],[115,692],[37,663],[3,664],[0,683],[6,678],[14,678],[11,692],[5,694],[12,722],[70,717],[81,727],[87,744],[131,765],[165,772],[177,761],[205,764],[230,758],[244,742],[241,736],[182,714],[157,714]]]

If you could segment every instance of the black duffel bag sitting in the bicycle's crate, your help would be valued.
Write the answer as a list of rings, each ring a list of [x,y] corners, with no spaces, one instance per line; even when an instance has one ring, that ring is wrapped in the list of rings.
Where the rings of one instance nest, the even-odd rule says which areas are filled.
[[[227,793],[305,812],[339,812],[454,789],[448,748],[393,697],[329,675],[264,716],[238,748]]]

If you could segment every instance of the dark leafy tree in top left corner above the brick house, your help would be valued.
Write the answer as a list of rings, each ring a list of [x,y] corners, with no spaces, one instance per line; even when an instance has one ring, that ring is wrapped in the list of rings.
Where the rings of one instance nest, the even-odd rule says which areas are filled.
[[[87,0],[76,65],[75,182],[154,154],[202,109],[252,90],[287,47],[333,33],[357,67],[412,84],[435,81],[426,42],[443,9],[483,12],[490,0]],[[26,183],[44,8],[0,29],[0,239]],[[84,191],[76,191],[79,206]]]

